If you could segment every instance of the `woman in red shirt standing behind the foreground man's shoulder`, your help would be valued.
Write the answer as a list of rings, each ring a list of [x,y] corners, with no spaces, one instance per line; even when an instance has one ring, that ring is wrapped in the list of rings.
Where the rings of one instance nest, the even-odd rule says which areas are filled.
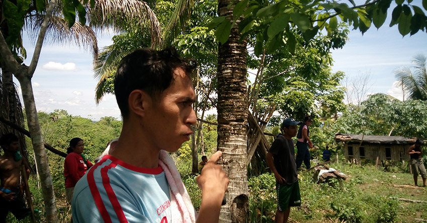
[[[67,148],[67,157],[64,162],[65,176],[65,194],[67,201],[71,204],[73,199],[74,186],[77,181],[93,166],[81,153],[84,151],[84,143],[81,138],[73,138],[70,140],[70,147]]]

